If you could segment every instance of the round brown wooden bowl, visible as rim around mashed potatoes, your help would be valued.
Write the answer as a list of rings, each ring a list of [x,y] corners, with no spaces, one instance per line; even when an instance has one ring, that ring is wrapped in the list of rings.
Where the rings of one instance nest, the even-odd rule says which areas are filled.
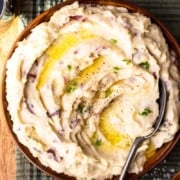
[[[48,21],[50,19],[50,17],[53,15],[53,13],[57,10],[59,10],[61,7],[71,4],[72,2],[74,2],[74,0],[69,0],[63,3],[60,3],[52,8],[50,8],[49,10],[43,12],[42,14],[40,14],[38,17],[36,17],[25,29],[24,31],[20,34],[20,36],[17,38],[15,44],[12,47],[12,50],[9,54],[9,57],[11,57],[12,53],[14,52],[15,48],[17,47],[17,42],[23,40],[25,37],[27,37],[30,33],[31,30],[37,26],[38,24]],[[159,21],[157,20],[152,14],[150,14],[148,11],[146,11],[145,9],[139,8],[131,3],[127,3],[124,1],[119,1],[119,0],[79,0],[80,4],[92,4],[92,5],[113,5],[113,6],[121,6],[121,7],[125,7],[127,8],[130,12],[139,12],[145,16],[148,16],[151,18],[152,22],[156,23],[162,30],[168,44],[169,47],[171,49],[173,49],[175,51],[175,53],[177,54],[177,62],[176,65],[178,66],[178,69],[180,70],[180,47],[178,45],[178,43],[176,42],[175,38],[171,35],[171,33],[168,31],[168,29]],[[17,145],[19,146],[19,148],[21,149],[21,151],[23,152],[23,154],[35,165],[37,166],[39,169],[41,169],[42,171],[44,171],[45,173],[47,173],[48,175],[51,175],[53,177],[59,178],[59,179],[66,179],[66,180],[70,180],[70,179],[75,179],[73,177],[69,177],[66,176],[64,174],[60,174],[60,173],[56,173],[55,171],[53,171],[52,169],[43,166],[40,161],[33,157],[32,154],[30,153],[30,151],[28,150],[27,147],[25,147],[24,145],[22,145],[18,139],[17,136],[14,134],[14,132],[12,131],[12,121],[10,119],[10,115],[9,112],[7,111],[7,100],[5,97],[5,78],[6,78],[6,62],[3,63],[4,65],[4,69],[1,75],[1,87],[0,87],[0,110],[3,112],[3,117],[8,124],[10,133],[12,134],[13,138],[15,139]],[[155,167],[160,161],[162,161],[167,154],[173,149],[173,147],[175,146],[175,144],[178,142],[180,138],[180,131],[178,131],[174,137],[174,139],[166,144],[164,144],[160,149],[158,149],[156,151],[156,153],[151,156],[146,163],[144,164],[144,169],[142,172],[140,172],[139,174],[128,174],[127,179],[137,179],[138,177],[144,175],[145,173],[147,173],[150,169],[152,169],[153,167]],[[114,177],[113,179],[118,179],[118,177]]]

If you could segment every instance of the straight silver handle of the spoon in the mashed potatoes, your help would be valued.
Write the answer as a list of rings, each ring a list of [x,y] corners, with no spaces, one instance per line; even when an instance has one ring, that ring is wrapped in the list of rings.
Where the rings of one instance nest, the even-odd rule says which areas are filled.
[[[126,176],[126,173],[127,173],[127,170],[136,154],[136,151],[139,147],[139,145],[145,140],[145,137],[138,137],[135,139],[130,151],[129,151],[129,154],[128,154],[128,157],[127,157],[127,160],[124,164],[124,167],[122,169],[122,172],[121,172],[121,176],[119,177],[119,180],[124,180],[125,176]]]

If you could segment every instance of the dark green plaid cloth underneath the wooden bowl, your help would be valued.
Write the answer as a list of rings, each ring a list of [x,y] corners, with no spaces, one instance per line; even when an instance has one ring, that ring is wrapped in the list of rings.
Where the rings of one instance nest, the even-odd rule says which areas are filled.
[[[59,2],[62,0],[20,0],[20,16],[24,26],[42,11]],[[129,0],[129,2],[148,9],[167,25],[180,42],[180,0]],[[17,180],[53,180],[32,165],[19,150],[16,162]],[[178,171],[180,171],[180,143],[164,161],[140,180],[171,180]]]

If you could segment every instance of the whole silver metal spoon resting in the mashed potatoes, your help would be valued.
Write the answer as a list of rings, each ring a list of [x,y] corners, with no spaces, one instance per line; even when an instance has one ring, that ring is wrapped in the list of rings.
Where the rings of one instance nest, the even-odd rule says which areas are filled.
[[[154,127],[154,130],[147,136],[141,136],[141,137],[137,137],[130,149],[130,152],[129,152],[129,155],[127,157],[127,160],[125,162],[125,165],[122,169],[122,172],[121,172],[121,175],[119,177],[119,180],[124,180],[125,178],[125,175],[126,175],[126,172],[136,154],[136,151],[139,147],[139,145],[151,138],[156,132],[157,130],[159,129],[162,121],[163,121],[163,117],[164,117],[164,113],[165,113],[165,109],[166,109],[166,101],[167,101],[167,92],[166,92],[166,87],[165,87],[165,84],[163,83],[162,80],[159,80],[159,92],[160,92],[160,98],[159,98],[159,116],[157,117],[153,127]]]

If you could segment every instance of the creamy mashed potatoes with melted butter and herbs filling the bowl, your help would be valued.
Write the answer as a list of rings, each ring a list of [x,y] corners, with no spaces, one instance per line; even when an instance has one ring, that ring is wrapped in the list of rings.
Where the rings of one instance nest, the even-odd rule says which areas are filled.
[[[78,179],[118,175],[134,139],[152,131],[158,80],[165,122],[130,172],[179,128],[179,74],[160,29],[125,8],[74,3],[19,42],[7,64],[13,130],[41,163]]]

